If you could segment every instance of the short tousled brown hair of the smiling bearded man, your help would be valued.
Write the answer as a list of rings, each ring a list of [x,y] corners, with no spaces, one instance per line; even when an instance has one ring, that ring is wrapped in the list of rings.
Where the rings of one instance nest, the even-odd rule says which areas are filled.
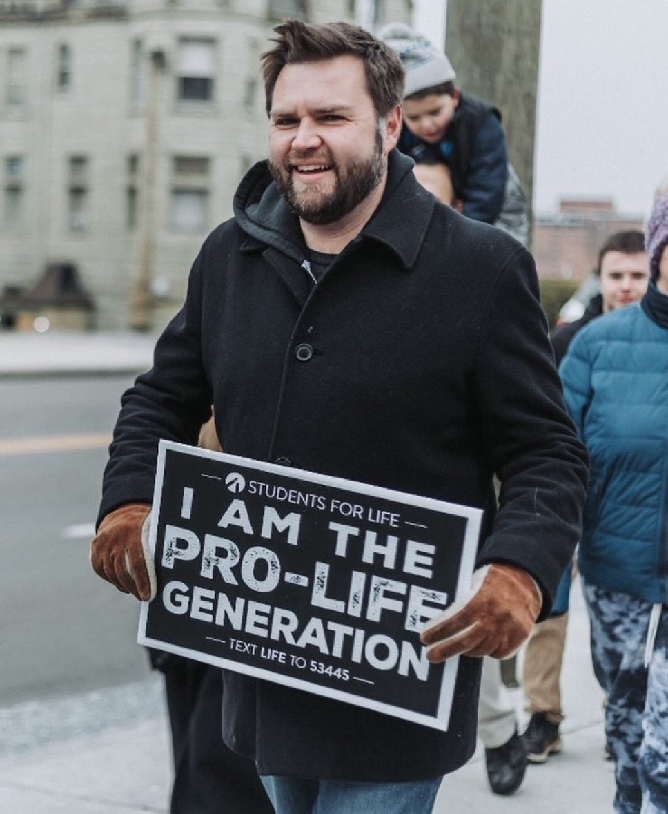
[[[287,20],[273,30],[277,35],[272,38],[275,46],[265,51],[261,59],[268,115],[274,85],[286,65],[320,62],[337,56],[356,56],[362,60],[369,96],[379,118],[401,104],[404,66],[395,50],[364,28],[349,23],[315,25]]]

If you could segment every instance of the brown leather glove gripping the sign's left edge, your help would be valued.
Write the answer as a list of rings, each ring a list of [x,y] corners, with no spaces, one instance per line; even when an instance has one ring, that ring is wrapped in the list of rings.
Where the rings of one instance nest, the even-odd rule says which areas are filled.
[[[144,602],[153,599],[157,590],[148,545],[150,515],[150,503],[126,503],[107,514],[90,544],[95,573]]]

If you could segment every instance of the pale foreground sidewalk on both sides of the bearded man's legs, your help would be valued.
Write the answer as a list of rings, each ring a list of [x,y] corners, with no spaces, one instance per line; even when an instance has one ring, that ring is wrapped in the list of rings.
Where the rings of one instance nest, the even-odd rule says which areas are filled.
[[[613,766],[603,759],[601,694],[589,662],[587,614],[578,582],[571,598],[563,673],[564,751],[543,766],[529,766],[520,790],[499,797],[487,787],[479,748],[469,764],[445,778],[434,814],[611,814]],[[32,711],[18,711],[12,721],[11,710],[0,710],[3,732],[21,717],[24,725],[33,720],[28,729],[37,729],[35,745],[17,744],[0,755],[0,811],[166,814],[171,755],[159,679],[150,676],[141,685],[90,696],[95,697],[68,699],[64,706],[76,705],[75,713],[54,712],[57,702],[45,702]],[[519,694],[517,702],[519,706]],[[116,711],[105,716],[108,707]],[[59,737],[58,732],[68,729],[63,720],[72,716],[83,716],[92,731]],[[98,721],[100,716],[107,720]],[[50,728],[45,727],[49,718]]]

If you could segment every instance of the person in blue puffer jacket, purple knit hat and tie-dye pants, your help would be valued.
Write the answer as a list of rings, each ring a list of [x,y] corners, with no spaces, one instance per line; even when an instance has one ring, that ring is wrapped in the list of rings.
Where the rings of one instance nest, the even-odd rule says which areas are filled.
[[[668,195],[645,239],[643,299],[585,326],[561,364],[592,462],[578,563],[618,814],[668,811]]]

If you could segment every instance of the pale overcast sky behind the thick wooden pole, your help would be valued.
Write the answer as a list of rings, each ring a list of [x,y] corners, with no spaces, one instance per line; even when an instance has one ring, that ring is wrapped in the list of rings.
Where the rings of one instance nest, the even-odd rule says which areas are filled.
[[[418,0],[417,28],[442,20],[443,0]],[[536,212],[603,197],[648,215],[668,176],[667,79],[668,0],[544,0]]]

